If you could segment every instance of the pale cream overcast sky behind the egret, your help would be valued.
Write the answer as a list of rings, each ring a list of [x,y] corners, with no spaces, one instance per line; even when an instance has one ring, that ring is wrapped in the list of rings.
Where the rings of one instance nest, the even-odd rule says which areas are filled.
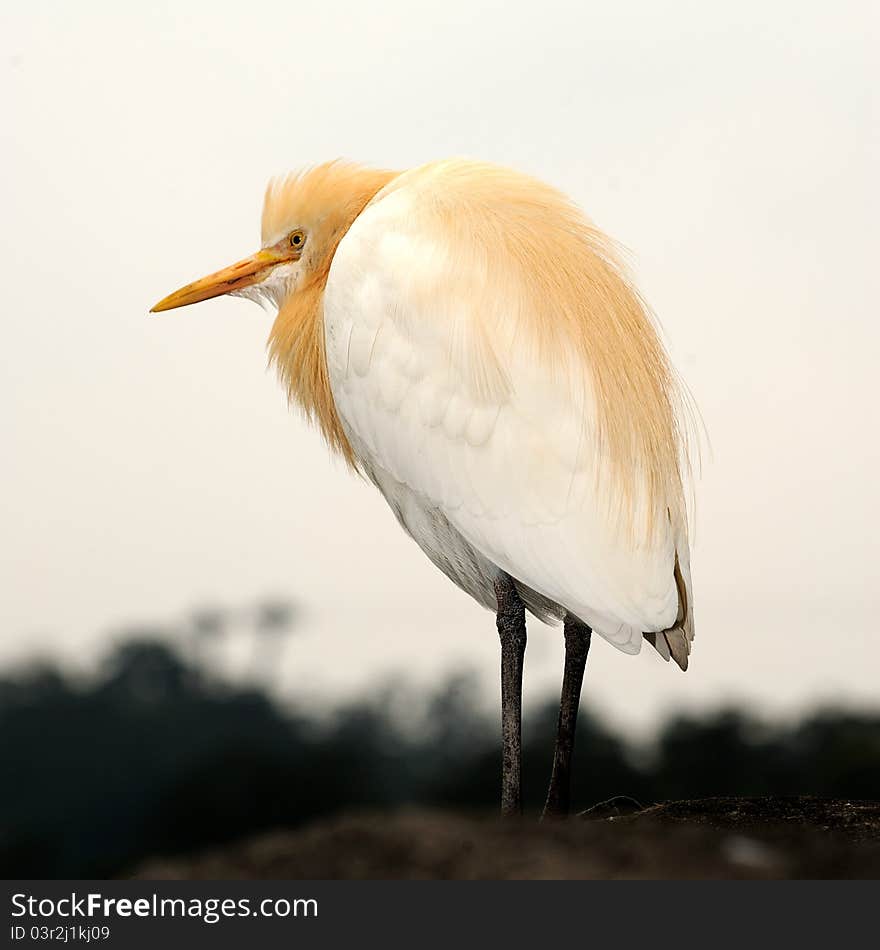
[[[876,4],[6,4],[0,662],[271,593],[284,677],[339,696],[474,667],[494,622],[330,461],[266,370],[271,317],[180,284],[254,250],[266,179],[467,155],[632,250],[712,442],[686,675],[597,641],[643,726],[876,699]],[[527,700],[561,635],[533,622]]]

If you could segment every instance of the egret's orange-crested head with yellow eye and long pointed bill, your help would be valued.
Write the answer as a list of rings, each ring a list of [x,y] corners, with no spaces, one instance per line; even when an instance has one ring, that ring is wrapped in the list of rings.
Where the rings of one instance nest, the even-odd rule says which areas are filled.
[[[263,202],[262,242],[250,257],[160,300],[153,313],[224,294],[281,309],[297,291],[326,281],[333,254],[354,219],[393,172],[328,162],[274,179]]]

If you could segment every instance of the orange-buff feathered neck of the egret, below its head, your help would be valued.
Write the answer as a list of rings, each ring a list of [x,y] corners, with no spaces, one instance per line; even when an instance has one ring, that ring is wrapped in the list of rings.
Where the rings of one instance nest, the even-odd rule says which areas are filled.
[[[357,216],[391,181],[395,172],[363,169],[346,182],[344,194],[333,195],[332,221],[326,240],[327,252],[278,311],[269,334],[269,359],[297,403],[320,428],[330,447],[352,466],[357,459],[342,428],[327,370],[324,345],[324,289],[339,242]]]

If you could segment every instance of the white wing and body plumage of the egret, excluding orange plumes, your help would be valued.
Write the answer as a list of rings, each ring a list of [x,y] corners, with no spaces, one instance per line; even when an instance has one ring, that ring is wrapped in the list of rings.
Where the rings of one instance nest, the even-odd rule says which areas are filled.
[[[397,182],[334,256],[324,332],[345,434],[404,529],[477,601],[495,608],[500,568],[539,616],[569,611],[637,653],[676,623],[676,553],[690,587],[685,525],[667,517],[640,542],[621,530],[597,484],[583,366],[561,378],[535,358],[510,319],[516,288],[487,300],[487,262],[420,226],[428,202],[424,177]],[[507,378],[475,384],[468,344],[487,328]]]

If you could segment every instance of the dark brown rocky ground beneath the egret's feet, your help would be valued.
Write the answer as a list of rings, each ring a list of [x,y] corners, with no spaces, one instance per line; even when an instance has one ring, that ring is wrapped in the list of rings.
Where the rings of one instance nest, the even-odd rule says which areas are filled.
[[[880,802],[713,798],[565,822],[448,812],[340,815],[189,857],[141,879],[880,877]]]

